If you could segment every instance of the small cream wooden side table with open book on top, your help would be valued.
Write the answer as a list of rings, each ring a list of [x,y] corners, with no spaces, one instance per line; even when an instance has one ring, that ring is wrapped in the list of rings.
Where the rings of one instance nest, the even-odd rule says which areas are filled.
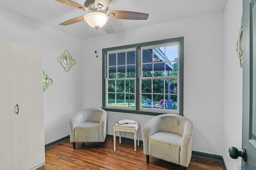
[[[114,151],[116,151],[116,131],[119,131],[119,143],[121,143],[121,132],[133,132],[134,133],[134,153],[136,153],[136,140],[137,140],[137,131],[139,129],[140,123],[134,123],[134,124],[122,124],[114,125],[113,130],[114,130]],[[139,134],[138,134],[138,145],[140,144],[139,140]]]

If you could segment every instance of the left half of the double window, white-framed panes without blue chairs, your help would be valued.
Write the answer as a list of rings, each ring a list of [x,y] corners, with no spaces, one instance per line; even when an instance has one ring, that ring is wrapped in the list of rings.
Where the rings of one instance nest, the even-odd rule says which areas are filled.
[[[136,49],[107,52],[106,106],[135,107]]]

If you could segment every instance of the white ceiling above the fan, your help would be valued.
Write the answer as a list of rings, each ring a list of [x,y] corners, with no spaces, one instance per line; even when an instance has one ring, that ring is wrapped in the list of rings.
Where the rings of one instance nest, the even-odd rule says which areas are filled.
[[[84,0],[73,0],[84,5]],[[115,32],[154,25],[180,18],[224,10],[226,0],[112,0],[108,10],[125,10],[149,14],[148,20],[109,21]],[[82,39],[107,34],[94,29],[85,21],[62,26],[59,23],[82,16],[86,11],[78,10],[55,0],[0,0],[0,7],[31,18],[40,23],[64,31]]]

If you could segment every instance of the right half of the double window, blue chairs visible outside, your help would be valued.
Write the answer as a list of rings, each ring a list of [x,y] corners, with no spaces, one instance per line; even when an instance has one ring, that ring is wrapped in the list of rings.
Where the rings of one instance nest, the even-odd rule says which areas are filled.
[[[178,50],[179,43],[140,48],[140,94],[142,109],[178,109]]]

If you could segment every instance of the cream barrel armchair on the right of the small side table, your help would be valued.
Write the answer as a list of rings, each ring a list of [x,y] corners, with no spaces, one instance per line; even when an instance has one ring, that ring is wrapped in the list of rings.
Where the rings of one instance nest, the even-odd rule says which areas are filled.
[[[192,155],[192,121],[181,115],[162,114],[153,117],[142,131],[147,163],[153,156],[186,170]]]

